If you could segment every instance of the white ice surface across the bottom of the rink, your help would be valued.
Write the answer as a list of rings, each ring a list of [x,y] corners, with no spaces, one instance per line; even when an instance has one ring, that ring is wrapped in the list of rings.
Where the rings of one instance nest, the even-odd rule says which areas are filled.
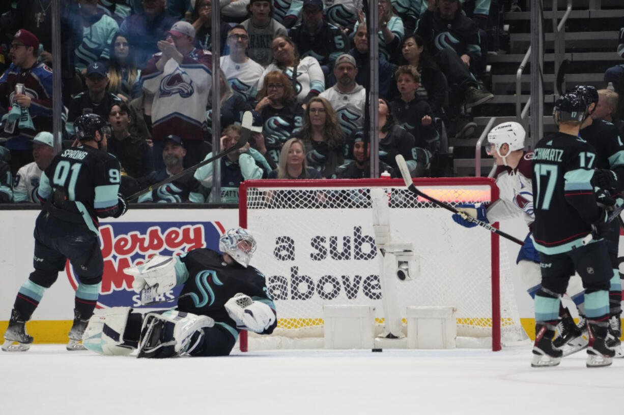
[[[0,352],[0,413],[620,413],[624,359],[585,367],[585,351],[530,367],[530,346],[488,350],[281,350],[223,358],[137,359],[33,345]]]

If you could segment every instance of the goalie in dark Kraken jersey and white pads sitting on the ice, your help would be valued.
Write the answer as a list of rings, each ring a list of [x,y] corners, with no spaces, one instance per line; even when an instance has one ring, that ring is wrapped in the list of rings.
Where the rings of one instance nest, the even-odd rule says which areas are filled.
[[[178,307],[142,315],[114,307],[94,315],[84,333],[87,349],[102,355],[137,357],[227,356],[240,330],[270,334],[277,326],[275,304],[264,275],[249,265],[256,241],[241,227],[219,239],[223,254],[193,249],[176,257],[155,255],[137,267],[132,287],[142,303],[183,285]]]

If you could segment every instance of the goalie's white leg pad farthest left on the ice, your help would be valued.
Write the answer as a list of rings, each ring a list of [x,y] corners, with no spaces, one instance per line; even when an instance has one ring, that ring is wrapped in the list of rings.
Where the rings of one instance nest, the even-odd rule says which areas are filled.
[[[137,347],[135,341],[124,339],[130,307],[113,307],[105,314],[92,315],[82,335],[82,345],[100,355],[129,355]]]

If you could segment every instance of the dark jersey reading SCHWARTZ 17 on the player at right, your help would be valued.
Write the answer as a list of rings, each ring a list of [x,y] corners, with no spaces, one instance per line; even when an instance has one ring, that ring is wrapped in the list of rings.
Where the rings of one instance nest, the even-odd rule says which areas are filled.
[[[535,248],[555,255],[582,246],[600,213],[590,180],[596,151],[565,133],[542,138],[533,156]]]

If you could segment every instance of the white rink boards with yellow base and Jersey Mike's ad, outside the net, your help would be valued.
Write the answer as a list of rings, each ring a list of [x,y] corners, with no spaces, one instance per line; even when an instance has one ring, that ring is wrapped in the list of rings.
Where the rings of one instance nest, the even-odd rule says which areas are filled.
[[[7,219],[0,222],[0,332],[6,330],[7,319],[19,287],[32,272],[34,239],[32,229],[39,211],[4,210]],[[131,281],[125,280],[119,272],[137,259],[148,254],[173,255],[197,247],[217,249],[218,235],[224,229],[238,225],[238,209],[130,209],[119,219],[100,222],[102,252],[105,259],[104,281],[100,292],[101,307],[132,305],[139,307],[137,293],[131,288]],[[524,239],[526,227],[520,219],[501,223],[501,229],[519,239]],[[486,232],[476,229],[475,232]],[[515,274],[515,252],[513,242],[501,239],[509,252],[510,270],[514,281],[522,326],[531,336],[534,330],[533,303],[524,291]],[[620,239],[620,250],[623,249]],[[624,252],[624,251],[623,251]],[[620,257],[620,264],[624,257]],[[252,260],[253,264],[253,260]],[[622,266],[620,266],[622,270]],[[27,323],[29,333],[37,343],[64,343],[71,326],[74,307],[74,290],[77,285],[72,270],[59,272],[56,283],[48,289],[32,321]],[[175,296],[168,293],[168,297]],[[164,297],[163,297],[164,298]],[[163,303],[173,307],[175,302]]]

